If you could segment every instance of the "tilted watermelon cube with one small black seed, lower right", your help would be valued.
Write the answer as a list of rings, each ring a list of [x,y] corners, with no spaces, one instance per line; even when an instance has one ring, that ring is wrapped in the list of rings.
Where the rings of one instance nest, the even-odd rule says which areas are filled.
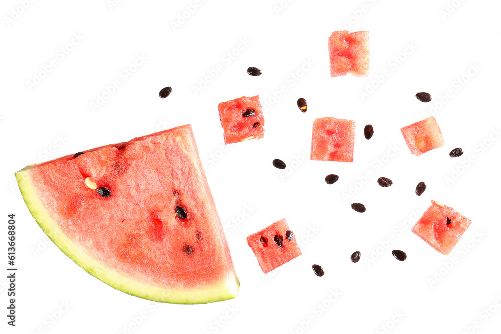
[[[412,232],[439,253],[448,255],[468,229],[471,220],[436,201],[412,227]]]

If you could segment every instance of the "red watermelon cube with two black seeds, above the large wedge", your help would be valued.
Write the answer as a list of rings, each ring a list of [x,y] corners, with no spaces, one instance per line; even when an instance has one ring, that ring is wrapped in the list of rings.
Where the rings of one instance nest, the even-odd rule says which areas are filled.
[[[263,138],[265,119],[259,95],[221,102],[218,106],[224,143],[238,143],[248,139]]]

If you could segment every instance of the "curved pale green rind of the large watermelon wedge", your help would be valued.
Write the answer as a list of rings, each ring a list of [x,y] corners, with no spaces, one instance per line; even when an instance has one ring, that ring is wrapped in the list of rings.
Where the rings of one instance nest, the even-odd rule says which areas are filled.
[[[21,195],[40,228],[47,236],[82,269],[92,276],[127,294],[158,302],[172,304],[205,304],[215,301],[233,299],[238,293],[240,282],[233,272],[225,281],[210,286],[190,289],[166,289],[160,286],[145,284],[124,276],[114,269],[105,267],[90,256],[78,244],[68,238],[51,218],[38,198],[37,190],[30,177],[31,166],[15,173]]]

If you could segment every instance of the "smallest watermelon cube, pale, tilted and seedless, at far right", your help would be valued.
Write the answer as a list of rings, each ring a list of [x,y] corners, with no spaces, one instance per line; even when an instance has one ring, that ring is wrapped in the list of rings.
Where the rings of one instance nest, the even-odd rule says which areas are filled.
[[[437,120],[430,116],[400,129],[411,153],[419,156],[445,145]]]

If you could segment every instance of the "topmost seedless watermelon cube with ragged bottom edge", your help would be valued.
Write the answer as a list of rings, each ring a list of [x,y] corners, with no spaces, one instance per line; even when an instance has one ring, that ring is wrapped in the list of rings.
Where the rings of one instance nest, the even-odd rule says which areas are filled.
[[[335,31],[328,39],[331,77],[369,75],[369,32]]]

